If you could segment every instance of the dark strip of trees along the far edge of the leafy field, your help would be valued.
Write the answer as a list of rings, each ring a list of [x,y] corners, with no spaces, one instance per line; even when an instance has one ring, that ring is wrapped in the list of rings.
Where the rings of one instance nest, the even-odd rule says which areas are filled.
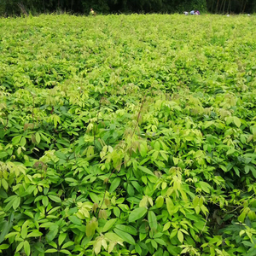
[[[212,13],[253,13],[256,0],[2,0],[0,15],[37,15],[49,12],[89,14],[90,8],[108,13],[183,13],[199,9]]]

